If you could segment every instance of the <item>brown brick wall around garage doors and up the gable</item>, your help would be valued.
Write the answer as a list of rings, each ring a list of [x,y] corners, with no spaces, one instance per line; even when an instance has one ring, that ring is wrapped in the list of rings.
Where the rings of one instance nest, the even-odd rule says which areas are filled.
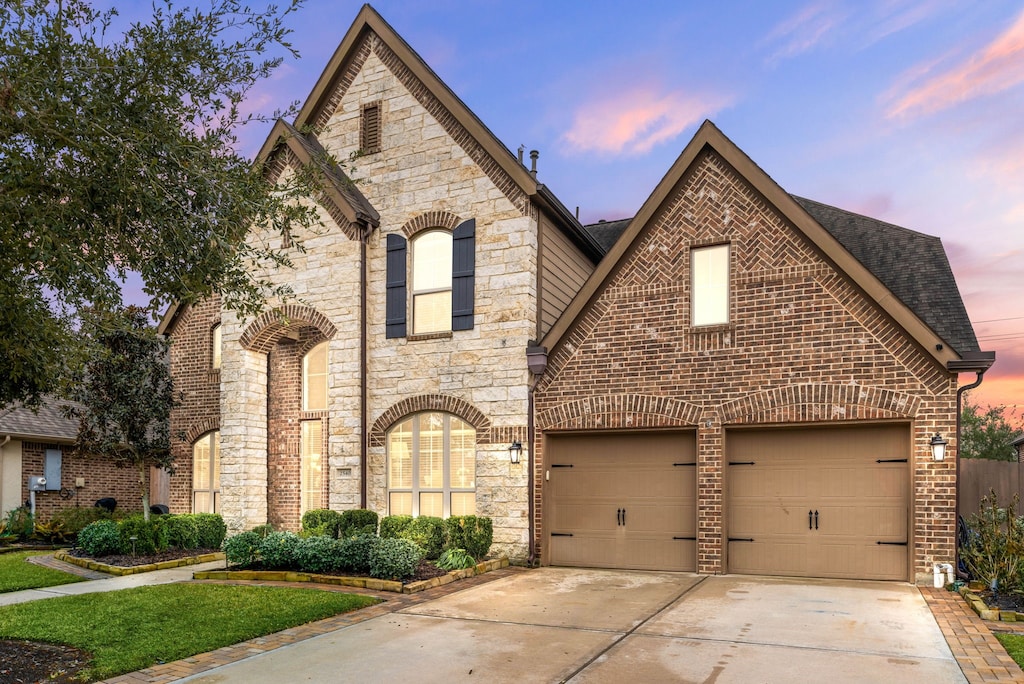
[[[731,323],[690,328],[689,251],[726,242]],[[912,427],[912,572],[930,578],[953,557],[956,521],[955,459],[933,462],[928,441],[955,433],[955,375],[707,153],[552,350],[536,393],[538,540],[550,430],[696,427],[697,570],[719,573],[730,427],[899,420]]]

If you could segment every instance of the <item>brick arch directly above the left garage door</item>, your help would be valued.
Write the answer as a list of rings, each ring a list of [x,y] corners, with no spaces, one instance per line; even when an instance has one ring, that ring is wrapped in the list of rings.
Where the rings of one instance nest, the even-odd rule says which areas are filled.
[[[703,410],[688,401],[650,394],[604,394],[562,403],[538,415],[551,429],[692,427]]]

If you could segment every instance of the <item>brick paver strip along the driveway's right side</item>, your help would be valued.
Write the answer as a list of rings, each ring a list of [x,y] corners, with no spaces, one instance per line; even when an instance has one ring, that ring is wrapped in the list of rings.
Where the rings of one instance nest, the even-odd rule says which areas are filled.
[[[1024,672],[959,594],[934,587],[920,590],[968,682],[1024,682]]]

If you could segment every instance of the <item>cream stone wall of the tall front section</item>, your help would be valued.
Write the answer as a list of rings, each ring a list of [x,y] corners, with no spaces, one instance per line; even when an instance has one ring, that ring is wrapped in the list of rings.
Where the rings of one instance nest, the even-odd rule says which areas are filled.
[[[442,404],[463,402],[487,422],[486,429],[474,424],[477,512],[494,518],[496,552],[524,557],[526,470],[509,464],[508,443],[512,437],[525,443],[524,349],[537,326],[536,209],[505,182],[497,165],[479,158],[478,145],[469,144],[454,119],[435,118],[436,100],[395,63],[390,50],[373,35],[364,40],[358,63],[342,80],[333,99],[337,110],[325,119],[318,137],[329,151],[347,158],[358,146],[361,103],[381,102],[381,152],[356,160],[355,169],[349,169],[364,179],[359,189],[381,216],[380,228],[367,245],[366,428],[359,422],[359,244],[322,212],[325,229],[298,236],[306,251],[292,254],[294,269],[268,273],[274,282],[290,283],[302,305],[337,330],[329,348],[330,506],[342,510],[359,505],[364,429],[382,416],[402,418],[392,411],[396,405],[425,405],[416,402],[418,397],[440,397]],[[474,328],[420,339],[385,339],[384,236],[408,236],[419,224],[431,227],[429,223],[452,217],[476,219]],[[252,335],[245,339],[255,339],[253,325],[224,315],[221,477],[223,510],[232,531],[259,524],[268,514],[267,412],[273,411],[278,390],[271,362],[268,404],[266,350],[242,345],[247,330]],[[393,421],[383,429],[391,425]],[[366,455],[368,505],[381,515],[387,512],[383,442],[378,440]]]

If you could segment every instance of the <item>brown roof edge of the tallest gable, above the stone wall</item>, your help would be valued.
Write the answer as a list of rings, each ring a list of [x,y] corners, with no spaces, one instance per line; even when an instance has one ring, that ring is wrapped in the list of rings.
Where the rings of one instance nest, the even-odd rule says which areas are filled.
[[[296,117],[294,128],[298,130],[318,130],[322,122],[337,106],[332,98],[338,84],[346,78],[348,67],[356,57],[364,37],[372,33],[376,39],[391,50],[401,62],[424,85],[444,110],[455,118],[470,135],[473,142],[494,160],[511,181],[530,200],[558,219],[559,227],[595,263],[600,260],[603,250],[583,229],[580,221],[558,201],[544,184],[539,183],[530,172],[506,147],[466,104],[452,91],[437,74],[427,66],[416,51],[392,29],[369,4],[362,5],[355,20],[342,38],[330,61],[317,79],[302,109]],[[268,154],[275,145],[271,137],[263,145],[261,156]]]

